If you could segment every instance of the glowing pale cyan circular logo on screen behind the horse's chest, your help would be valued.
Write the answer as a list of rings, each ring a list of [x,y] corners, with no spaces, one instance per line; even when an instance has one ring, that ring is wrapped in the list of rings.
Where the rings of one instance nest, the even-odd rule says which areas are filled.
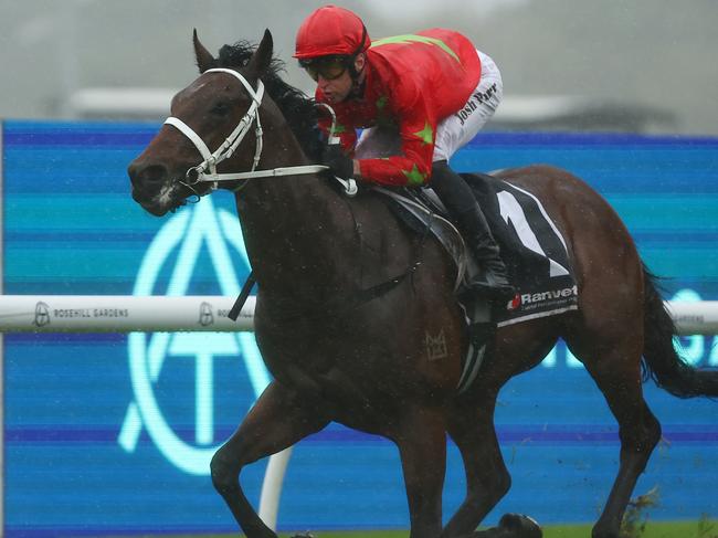
[[[191,210],[173,215],[157,233],[142,259],[134,295],[186,295],[201,255],[209,256],[222,295],[236,296],[241,283],[232,265],[230,249],[249,265],[236,217],[224,210],[215,211],[211,199],[204,198]],[[157,289],[160,274],[162,282],[167,283],[166,289]],[[157,315],[161,316],[161,313]],[[212,306],[203,303],[199,312],[200,323],[211,325],[213,316]],[[219,446],[214,439],[214,362],[240,357],[254,395],[258,397],[268,384],[270,376],[254,335],[130,333],[128,354],[135,400],[125,414],[118,439],[120,446],[135,452],[144,429],[162,455],[179,470],[193,475],[209,475],[210,460]],[[196,361],[193,393],[181,389],[187,392],[187,398],[193,399],[193,442],[181,439],[172,430],[155,394],[160,373],[165,368],[171,368],[177,357]]]

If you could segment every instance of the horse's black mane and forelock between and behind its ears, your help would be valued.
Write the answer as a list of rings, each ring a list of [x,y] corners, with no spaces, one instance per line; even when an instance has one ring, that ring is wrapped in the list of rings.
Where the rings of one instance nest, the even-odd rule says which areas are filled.
[[[239,41],[220,49],[217,67],[243,67],[252,57],[256,45],[249,41]],[[318,160],[321,155],[321,139],[317,126],[317,107],[314,99],[291,86],[279,77],[284,72],[284,62],[272,57],[267,68],[260,74],[264,87],[272,101],[284,114],[294,136],[302,145],[307,157]]]

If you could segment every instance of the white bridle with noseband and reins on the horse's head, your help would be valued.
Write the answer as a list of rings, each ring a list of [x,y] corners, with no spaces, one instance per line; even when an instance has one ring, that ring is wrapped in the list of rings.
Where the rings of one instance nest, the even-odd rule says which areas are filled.
[[[183,184],[190,191],[192,191],[192,193],[197,197],[197,200],[193,201],[198,201],[200,198],[200,194],[196,189],[196,187],[199,186],[200,183],[210,183],[210,189],[208,192],[211,192],[213,190],[219,189],[221,183],[226,183],[226,182],[237,182],[242,180],[258,179],[258,178],[274,178],[281,176],[298,176],[298,175],[307,175],[307,173],[317,173],[327,170],[328,167],[323,165],[293,166],[293,167],[284,167],[284,168],[272,168],[268,170],[257,170],[256,167],[260,163],[260,159],[262,157],[262,148],[263,148],[262,123],[260,120],[260,105],[262,104],[262,98],[264,97],[264,84],[262,83],[262,81],[257,80],[257,86],[255,91],[252,87],[252,85],[247,82],[247,80],[244,78],[244,76],[242,76],[239,72],[229,68],[218,67],[218,68],[207,70],[204,73],[226,73],[229,75],[234,76],[236,80],[239,80],[242,83],[242,85],[245,87],[245,89],[252,97],[252,104],[250,105],[250,109],[240,120],[239,125],[234,128],[234,130],[230,134],[230,136],[228,136],[226,139],[220,145],[220,147],[217,148],[217,150],[214,151],[210,151],[210,148],[207,146],[207,144],[204,144],[204,140],[202,140],[202,138],[197,133],[194,133],[194,130],[184,122],[182,122],[180,118],[170,116],[165,120],[166,124],[176,127],[177,129],[180,130],[180,133],[182,133],[187,138],[189,138],[192,141],[192,144],[194,144],[194,147],[199,150],[200,155],[204,159],[196,167],[192,167],[189,170],[187,170],[187,173],[184,176],[184,181],[179,181],[181,184]],[[331,109],[331,107],[329,107],[328,105],[321,104],[321,106],[326,106],[329,109],[329,113],[331,114],[332,124],[331,124],[331,130],[329,133],[329,143],[335,144],[337,141],[334,137],[334,130],[336,125],[335,113]],[[236,148],[240,146],[240,144],[242,143],[246,134],[252,128],[252,124],[256,124],[254,127],[256,146],[254,148],[254,160],[252,162],[252,169],[246,172],[219,173],[217,171],[217,166],[223,160],[229,159],[230,157],[232,157],[232,155],[234,155],[234,151],[236,150]],[[348,196],[353,196],[357,193],[357,183],[353,179],[351,178],[342,179],[336,177],[335,179],[344,186],[345,191]],[[232,191],[239,191],[245,184],[246,183],[242,182],[239,186],[228,187],[228,189]]]

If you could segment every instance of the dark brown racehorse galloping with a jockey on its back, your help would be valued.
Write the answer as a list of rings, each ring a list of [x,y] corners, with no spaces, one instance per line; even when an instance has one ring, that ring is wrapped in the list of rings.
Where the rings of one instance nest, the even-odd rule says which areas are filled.
[[[199,179],[217,179],[215,168],[286,175],[230,181],[241,184],[236,208],[258,284],[256,339],[274,377],[211,463],[213,484],[244,532],[276,536],[244,496],[241,470],[330,421],[397,444],[412,538],[474,532],[510,486],[493,423],[499,389],[537,366],[561,337],[620,426],[620,468],[593,528],[594,537],[616,537],[661,437],[643,398],[642,368],[682,398],[718,395],[718,373],[697,371],[676,355],[672,319],[611,207],[563,170],[532,166],[500,172],[540,199],[563,234],[580,308],[498,329],[478,380],[460,395],[468,344],[448,255],[399,224],[371,190],[348,198],[313,168],[286,169],[315,161],[319,137],[313,102],[277,75],[268,31],[254,52],[246,44],[228,45],[214,59],[197,34],[194,50],[202,74],[172,101],[172,115],[181,122],[165,125],[130,165],[134,199],[162,215],[208,193],[211,183]],[[263,134],[256,129],[260,118]],[[231,155],[211,155],[214,147],[230,148]],[[426,341],[440,334],[448,354],[436,359]],[[467,492],[442,528],[446,434],[461,451]],[[540,536],[540,530],[505,517],[500,527],[476,535]]]

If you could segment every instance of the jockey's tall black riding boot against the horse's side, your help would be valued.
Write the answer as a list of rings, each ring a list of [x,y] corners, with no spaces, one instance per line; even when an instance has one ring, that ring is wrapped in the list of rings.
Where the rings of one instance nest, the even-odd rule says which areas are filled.
[[[467,246],[483,270],[478,278],[468,283],[469,289],[496,300],[514,298],[516,289],[508,281],[498,245],[471,187],[448,168],[445,160],[433,163],[431,187],[456,220]]]

